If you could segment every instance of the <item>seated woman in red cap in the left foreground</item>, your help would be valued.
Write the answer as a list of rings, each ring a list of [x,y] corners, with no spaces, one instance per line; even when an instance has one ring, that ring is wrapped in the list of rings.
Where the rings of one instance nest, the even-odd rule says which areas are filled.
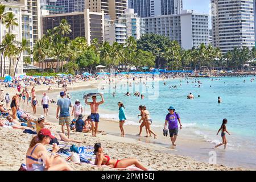
[[[59,147],[54,143],[51,155],[48,155],[46,144],[54,137],[48,129],[42,129],[32,138],[26,153],[27,171],[72,171],[73,169],[56,152]]]

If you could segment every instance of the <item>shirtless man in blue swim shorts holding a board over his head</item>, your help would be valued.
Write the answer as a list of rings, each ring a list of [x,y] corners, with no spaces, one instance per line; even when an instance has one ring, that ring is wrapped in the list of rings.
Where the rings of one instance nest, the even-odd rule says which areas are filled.
[[[100,122],[100,115],[98,114],[98,106],[100,104],[103,104],[105,101],[104,101],[104,98],[101,94],[101,102],[96,102],[96,96],[93,96],[92,97],[92,100],[93,102],[88,102],[87,101],[87,97],[85,98],[85,104],[88,104],[90,105],[90,121],[92,123],[92,136],[93,137],[96,137],[96,133],[97,133],[97,130],[98,130],[98,122]],[[95,130],[94,130],[94,127],[95,127]]]

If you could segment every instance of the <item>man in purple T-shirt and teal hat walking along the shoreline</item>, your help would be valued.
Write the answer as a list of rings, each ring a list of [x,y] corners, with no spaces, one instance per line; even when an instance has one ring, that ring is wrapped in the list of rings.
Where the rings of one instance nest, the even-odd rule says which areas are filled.
[[[182,129],[180,116],[177,114],[174,109],[174,107],[170,106],[168,109],[169,113],[166,115],[166,122],[164,123],[164,130],[166,130],[166,126],[168,123],[168,129],[172,141],[172,145],[176,146],[175,141],[177,139],[177,133],[179,131],[179,126],[177,124],[177,121],[180,123],[180,129]]]

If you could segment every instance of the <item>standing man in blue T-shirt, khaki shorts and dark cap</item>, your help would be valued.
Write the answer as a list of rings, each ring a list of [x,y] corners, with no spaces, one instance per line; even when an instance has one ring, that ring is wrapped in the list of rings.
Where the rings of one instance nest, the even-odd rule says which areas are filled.
[[[67,126],[68,129],[68,138],[70,135],[70,127],[71,119],[69,114],[69,107],[72,107],[71,101],[68,98],[64,98],[65,93],[60,92],[60,99],[57,101],[57,111],[56,118],[59,119],[59,125],[61,125],[62,133],[64,133],[64,125]],[[59,117],[60,111],[60,117]]]

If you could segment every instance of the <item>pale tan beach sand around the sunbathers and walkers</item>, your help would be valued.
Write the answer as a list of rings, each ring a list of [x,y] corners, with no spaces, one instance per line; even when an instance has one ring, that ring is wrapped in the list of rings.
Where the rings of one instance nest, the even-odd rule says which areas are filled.
[[[68,85],[68,92],[72,92],[79,89],[92,89],[97,87],[102,80],[91,80],[85,82],[77,82],[74,85]],[[31,88],[28,88],[31,90]],[[42,97],[42,92],[46,91],[49,98],[57,101],[57,94],[61,88],[57,86],[53,87],[52,90],[48,91],[46,86],[36,86],[36,95],[38,101]],[[10,96],[16,93],[16,89],[5,88],[5,93],[9,92]],[[32,112],[32,108],[27,107],[26,104],[20,105],[23,110]],[[32,117],[39,117],[43,114],[42,106],[38,107],[38,113],[32,115]],[[49,105],[49,115],[46,117],[46,121],[51,122],[53,130],[61,131],[61,126],[57,124],[56,115],[56,104]],[[193,158],[187,156],[181,156],[175,154],[175,149],[169,147],[164,147],[158,144],[159,141],[166,142],[170,145],[170,138],[164,138],[161,130],[157,130],[158,139],[144,138],[144,137],[134,137],[138,133],[138,126],[125,126],[126,137],[119,137],[119,126],[118,122],[109,121],[108,119],[101,118],[99,130],[104,130],[106,135],[98,134],[97,137],[92,137],[91,133],[76,133],[71,132],[71,138],[81,140],[82,143],[77,144],[73,142],[64,142],[65,144],[76,146],[94,146],[94,143],[100,142],[105,148],[105,153],[114,159],[123,158],[137,158],[142,164],[148,169],[154,170],[220,170],[220,171],[233,171],[233,170],[247,170],[240,167],[225,167],[224,165],[209,164],[205,162],[200,162]],[[13,170],[19,169],[20,164],[26,163],[25,156],[32,138],[30,134],[22,133],[23,130],[19,129],[7,129],[0,127],[0,170]],[[67,132],[67,131],[66,131]],[[182,135],[182,133],[181,133]],[[186,141],[179,138],[178,144],[185,143]],[[63,142],[61,142],[63,143]],[[193,145],[193,142],[189,143]],[[51,148],[51,146],[47,146]],[[73,162],[68,162],[71,167],[75,170],[115,170],[108,167],[95,167],[90,164],[81,163],[75,164]]]

